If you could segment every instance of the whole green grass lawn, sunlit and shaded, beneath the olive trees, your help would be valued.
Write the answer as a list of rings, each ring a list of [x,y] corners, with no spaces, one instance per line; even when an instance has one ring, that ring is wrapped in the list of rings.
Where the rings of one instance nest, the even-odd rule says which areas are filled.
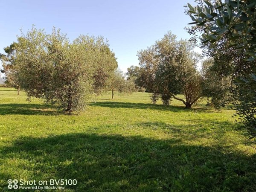
[[[234,111],[93,97],[79,115],[0,87],[0,190],[8,179],[76,179],[64,191],[256,191],[256,145]]]

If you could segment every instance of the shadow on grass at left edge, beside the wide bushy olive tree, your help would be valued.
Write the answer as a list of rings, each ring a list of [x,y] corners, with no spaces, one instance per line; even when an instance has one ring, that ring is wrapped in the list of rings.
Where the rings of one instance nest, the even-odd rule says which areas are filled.
[[[57,115],[60,114],[56,111],[54,106],[46,104],[0,104],[0,115]]]

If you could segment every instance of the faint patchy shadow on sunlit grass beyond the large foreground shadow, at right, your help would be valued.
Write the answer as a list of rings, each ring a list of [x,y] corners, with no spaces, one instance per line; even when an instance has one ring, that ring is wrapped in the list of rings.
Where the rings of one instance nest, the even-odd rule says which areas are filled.
[[[250,137],[242,125],[232,123],[230,121],[219,121],[212,119],[207,121],[195,120],[189,124],[187,123],[188,122],[177,125],[161,121],[145,121],[137,122],[135,125],[144,129],[162,130],[164,133],[171,134],[172,137],[175,138],[181,138],[183,141],[200,141],[202,138],[215,139],[218,140],[219,146],[227,143],[228,138],[226,133],[230,133],[230,131],[234,131],[234,133],[239,134],[238,137],[240,135]],[[251,145],[253,143],[253,140],[245,140],[243,144]]]

